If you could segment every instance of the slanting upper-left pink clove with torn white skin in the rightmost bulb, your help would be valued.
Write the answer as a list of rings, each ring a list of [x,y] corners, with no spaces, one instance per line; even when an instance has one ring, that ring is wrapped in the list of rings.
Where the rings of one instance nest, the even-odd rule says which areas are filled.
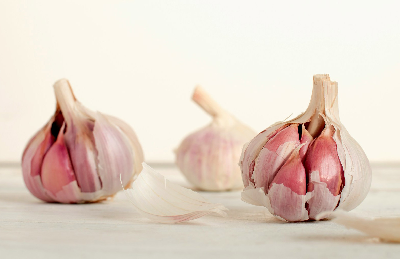
[[[255,160],[252,179],[258,187],[268,187],[276,173],[287,161],[292,151],[300,144],[298,124],[292,124],[279,131],[262,148]]]

